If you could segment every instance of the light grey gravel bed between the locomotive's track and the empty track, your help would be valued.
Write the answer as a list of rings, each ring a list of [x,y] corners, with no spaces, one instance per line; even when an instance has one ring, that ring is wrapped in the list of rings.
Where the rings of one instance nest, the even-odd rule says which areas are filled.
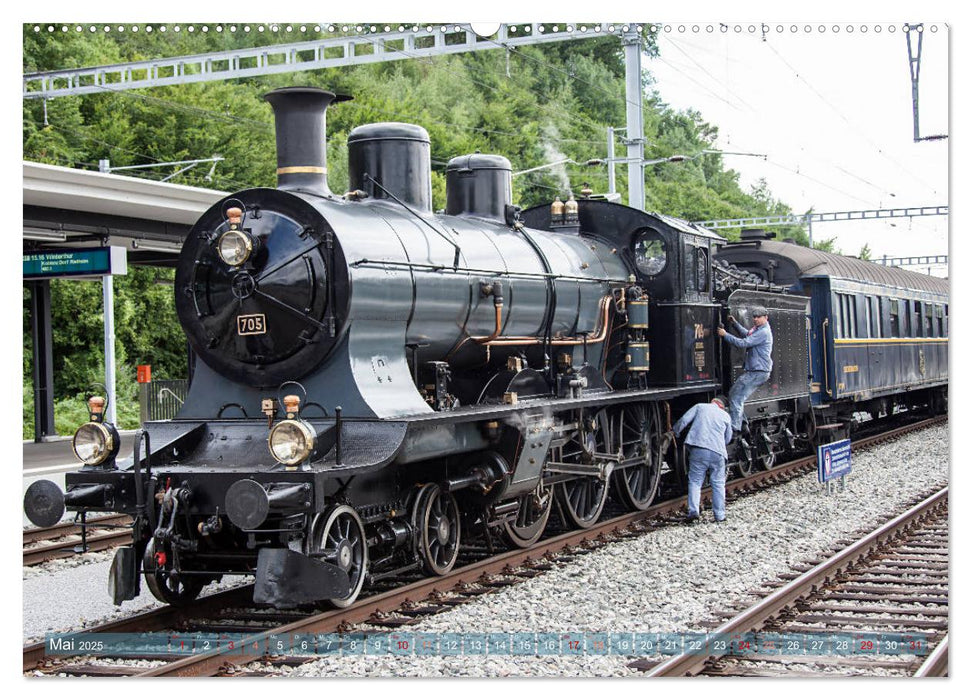
[[[708,511],[700,524],[607,545],[403,631],[703,632],[702,622],[740,603],[746,591],[946,484],[948,451],[948,426],[931,427],[854,454],[845,491],[826,495],[815,475],[800,477],[730,504],[724,524],[714,523]],[[621,656],[321,657],[275,671],[345,677],[639,675],[629,662]]]

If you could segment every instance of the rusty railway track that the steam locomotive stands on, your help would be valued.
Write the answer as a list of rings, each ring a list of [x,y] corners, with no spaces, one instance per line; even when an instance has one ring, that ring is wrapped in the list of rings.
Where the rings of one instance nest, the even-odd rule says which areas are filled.
[[[892,440],[908,432],[943,422],[935,418],[895,428],[854,443],[854,449]],[[726,485],[729,500],[763,488],[781,484],[815,469],[815,456],[803,457],[730,481]],[[710,498],[710,489],[702,492]],[[24,671],[67,675],[138,675],[138,676],[216,676],[254,675],[246,665],[263,661],[270,665],[290,666],[306,658],[267,653],[274,635],[322,634],[340,632],[355,624],[387,630],[413,624],[428,615],[460,605],[471,598],[522,582],[557,566],[558,562],[623,539],[638,537],[669,524],[686,504],[686,497],[658,503],[645,511],[625,513],[609,518],[582,531],[572,531],[541,540],[528,549],[516,549],[487,556],[456,567],[445,576],[413,580],[383,592],[374,592],[340,610],[278,611],[253,606],[252,586],[200,598],[192,605],[176,609],[159,608],[149,613],[113,621],[86,632],[201,632],[234,635],[235,652],[209,651],[173,658],[159,654],[149,658],[157,662],[151,668],[112,665],[101,660],[93,663],[84,658],[46,657],[43,643],[24,647]],[[240,651],[243,650],[243,651]],[[265,675],[265,674],[256,674]]]

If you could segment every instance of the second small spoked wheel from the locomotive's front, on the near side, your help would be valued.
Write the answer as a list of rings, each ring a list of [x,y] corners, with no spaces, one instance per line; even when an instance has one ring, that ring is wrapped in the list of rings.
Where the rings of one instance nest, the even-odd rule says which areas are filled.
[[[437,484],[428,484],[415,501],[418,553],[429,576],[443,576],[452,570],[459,556],[462,521],[458,502]]]

